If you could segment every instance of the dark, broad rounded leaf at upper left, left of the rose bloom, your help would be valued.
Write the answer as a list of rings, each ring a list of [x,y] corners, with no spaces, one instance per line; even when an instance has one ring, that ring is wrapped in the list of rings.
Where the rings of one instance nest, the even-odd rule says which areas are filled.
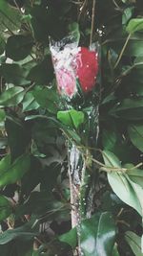
[[[12,35],[6,44],[6,56],[15,61],[26,58],[31,53],[32,45],[30,35]]]

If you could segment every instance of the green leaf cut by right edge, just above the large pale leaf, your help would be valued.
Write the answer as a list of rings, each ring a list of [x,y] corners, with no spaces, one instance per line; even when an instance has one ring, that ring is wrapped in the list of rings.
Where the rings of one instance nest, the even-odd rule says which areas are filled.
[[[135,124],[128,127],[128,133],[133,145],[143,152],[143,125]]]

